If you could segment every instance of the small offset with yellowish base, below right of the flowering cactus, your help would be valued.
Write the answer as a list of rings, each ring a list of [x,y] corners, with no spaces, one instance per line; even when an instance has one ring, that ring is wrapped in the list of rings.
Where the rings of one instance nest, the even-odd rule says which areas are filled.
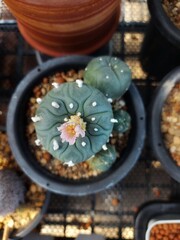
[[[89,159],[87,163],[92,170],[97,170],[100,172],[107,171],[116,160],[116,150],[115,147],[108,144],[107,150],[101,150],[93,158]]]

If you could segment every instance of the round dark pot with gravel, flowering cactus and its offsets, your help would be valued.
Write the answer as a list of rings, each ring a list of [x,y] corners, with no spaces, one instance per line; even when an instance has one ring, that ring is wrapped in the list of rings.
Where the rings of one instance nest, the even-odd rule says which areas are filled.
[[[34,181],[56,193],[85,195],[114,185],[135,165],[144,115],[123,61],[69,56],[21,81],[7,129],[18,163]]]

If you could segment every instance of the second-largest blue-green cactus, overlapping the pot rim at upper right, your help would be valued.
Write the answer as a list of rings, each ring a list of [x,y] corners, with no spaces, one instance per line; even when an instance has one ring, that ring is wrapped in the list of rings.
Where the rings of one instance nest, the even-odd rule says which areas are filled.
[[[131,71],[128,65],[116,57],[94,58],[84,72],[85,83],[98,88],[108,98],[119,98],[129,88]]]

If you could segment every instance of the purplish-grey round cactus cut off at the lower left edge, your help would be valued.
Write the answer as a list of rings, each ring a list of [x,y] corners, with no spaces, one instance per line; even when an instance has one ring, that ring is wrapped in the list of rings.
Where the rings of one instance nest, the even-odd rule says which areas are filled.
[[[0,171],[0,215],[5,216],[24,202],[22,179],[12,170]]]

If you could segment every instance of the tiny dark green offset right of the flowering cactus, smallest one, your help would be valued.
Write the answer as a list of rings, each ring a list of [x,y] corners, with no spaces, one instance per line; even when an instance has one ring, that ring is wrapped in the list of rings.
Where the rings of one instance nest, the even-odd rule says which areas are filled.
[[[118,121],[114,123],[113,130],[124,133],[131,127],[131,116],[123,109],[114,111],[114,117]]]

